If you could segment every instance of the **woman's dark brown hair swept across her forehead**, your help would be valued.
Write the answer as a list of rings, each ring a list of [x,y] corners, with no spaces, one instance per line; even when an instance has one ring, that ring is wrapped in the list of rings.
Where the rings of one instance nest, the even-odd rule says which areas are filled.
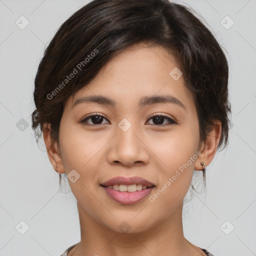
[[[34,79],[31,118],[36,142],[43,124],[50,123],[52,142],[59,145],[67,98],[128,46],[146,43],[162,46],[174,56],[185,86],[195,96],[201,141],[217,119],[217,149],[224,148],[231,111],[228,63],[217,40],[192,11],[168,0],[92,0],[74,12],[45,49]],[[204,171],[203,180],[205,184]]]

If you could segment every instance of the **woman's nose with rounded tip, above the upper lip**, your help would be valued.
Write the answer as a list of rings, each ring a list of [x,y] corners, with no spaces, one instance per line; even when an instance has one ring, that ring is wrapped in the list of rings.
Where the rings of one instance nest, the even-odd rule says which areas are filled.
[[[142,132],[135,125],[123,131],[116,126],[116,135],[108,144],[107,161],[109,164],[123,164],[125,166],[146,165],[149,162],[149,149]]]

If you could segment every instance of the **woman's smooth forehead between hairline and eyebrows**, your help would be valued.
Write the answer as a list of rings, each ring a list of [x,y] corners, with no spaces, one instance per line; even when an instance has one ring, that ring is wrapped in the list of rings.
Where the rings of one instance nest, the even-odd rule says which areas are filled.
[[[170,95],[180,98],[185,107],[193,105],[192,93],[184,86],[182,75],[173,76],[178,64],[162,46],[136,44],[129,46],[101,68],[92,81],[68,99],[71,108],[77,99],[103,95],[127,106],[141,103],[142,96]],[[180,75],[180,73],[178,73]]]

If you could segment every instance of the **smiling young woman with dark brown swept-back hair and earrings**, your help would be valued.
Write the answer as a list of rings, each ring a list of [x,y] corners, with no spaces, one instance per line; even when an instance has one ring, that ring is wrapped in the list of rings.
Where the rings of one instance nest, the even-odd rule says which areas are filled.
[[[58,29],[35,77],[32,127],[77,200],[61,256],[212,255],[185,239],[183,198],[228,137],[228,64],[167,0],[93,0]]]

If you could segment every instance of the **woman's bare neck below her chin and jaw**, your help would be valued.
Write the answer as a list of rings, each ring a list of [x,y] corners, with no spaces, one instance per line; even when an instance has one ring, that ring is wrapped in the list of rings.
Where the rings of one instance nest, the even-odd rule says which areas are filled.
[[[77,208],[81,241],[69,251],[68,256],[205,255],[184,238],[182,204],[166,219],[154,223],[150,228],[127,233],[124,233],[124,229],[123,232],[113,230],[102,220],[93,218],[79,203]]]

